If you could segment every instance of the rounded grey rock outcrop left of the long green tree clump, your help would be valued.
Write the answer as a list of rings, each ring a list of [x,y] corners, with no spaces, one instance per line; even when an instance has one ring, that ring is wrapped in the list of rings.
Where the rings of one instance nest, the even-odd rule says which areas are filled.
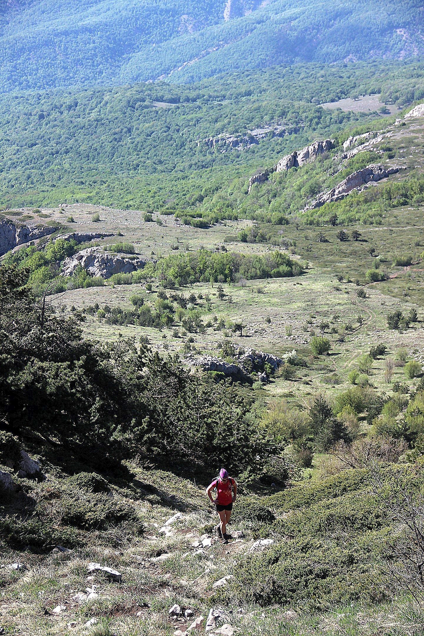
[[[74,256],[64,260],[62,273],[64,276],[72,276],[76,268],[81,266],[92,276],[101,276],[108,279],[113,274],[132,273],[146,265],[146,261],[140,258],[127,258],[125,254],[104,252],[100,247],[88,247]]]

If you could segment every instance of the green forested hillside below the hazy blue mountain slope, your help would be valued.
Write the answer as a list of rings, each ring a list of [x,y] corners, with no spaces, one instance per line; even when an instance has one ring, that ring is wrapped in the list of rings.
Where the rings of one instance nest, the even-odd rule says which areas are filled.
[[[0,204],[80,201],[184,210],[221,188],[222,179],[249,178],[285,152],[365,121],[361,113],[319,106],[360,93],[381,93],[399,107],[422,99],[422,65],[302,64],[192,86],[3,95]],[[249,131],[261,127],[268,133],[253,138]],[[242,142],[212,148],[206,140],[219,135]]]

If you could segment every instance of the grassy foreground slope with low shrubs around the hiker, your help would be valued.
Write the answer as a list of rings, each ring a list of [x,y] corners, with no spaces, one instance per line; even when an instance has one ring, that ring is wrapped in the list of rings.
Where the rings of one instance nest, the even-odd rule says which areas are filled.
[[[69,541],[61,537],[69,501],[78,496],[75,506],[81,508],[95,495],[84,487],[77,488],[77,495],[75,486],[66,485],[67,475],[82,466],[59,469],[46,459],[46,448],[39,451],[47,479],[39,484],[20,480],[27,497],[6,502],[6,511],[13,515],[20,508],[22,514],[31,506],[43,520],[44,532],[53,529],[57,543],[71,551],[55,551],[54,543],[31,549],[25,526],[18,535],[30,544],[29,550],[14,549],[13,537],[5,541],[3,534],[1,561],[24,564],[19,571],[3,570],[0,616],[6,633],[87,633],[84,624],[96,618],[101,631],[93,633],[104,636],[170,636],[191,623],[169,618],[168,609],[175,603],[191,607],[193,618],[222,607],[226,622],[241,636],[252,630],[265,636],[300,636],[305,629],[313,636],[339,630],[361,636],[377,629],[387,636],[420,633],[422,608],[402,595],[385,598],[390,581],[383,581],[380,568],[390,522],[380,512],[381,502],[374,502],[369,477],[362,470],[271,496],[253,495],[242,484],[231,522],[231,532],[242,530],[242,539],[228,545],[212,542],[199,551],[193,542],[203,534],[213,536],[215,523],[203,490],[209,475],[199,483],[190,475],[183,479],[132,464],[131,483],[109,477],[106,489],[113,493],[112,511],[117,506],[136,511],[144,525],[142,534],[133,522],[116,524],[111,515],[111,526],[100,530],[81,530],[78,523],[68,522],[67,529],[74,530]],[[177,511],[182,518],[170,525],[169,536],[163,536],[158,530]],[[254,541],[265,537],[274,544],[250,555]],[[339,550],[350,555],[348,565],[343,564],[345,557],[338,560]],[[158,559],[161,555],[167,556]],[[118,570],[122,582],[108,582],[100,574],[90,577],[89,562]],[[229,575],[226,588],[214,588],[215,581]],[[294,581],[296,588],[291,586]],[[86,588],[97,596],[76,600]],[[266,601],[276,590],[285,597],[281,606]],[[252,593],[259,595],[256,600]],[[52,610],[58,605],[63,609],[55,614]]]

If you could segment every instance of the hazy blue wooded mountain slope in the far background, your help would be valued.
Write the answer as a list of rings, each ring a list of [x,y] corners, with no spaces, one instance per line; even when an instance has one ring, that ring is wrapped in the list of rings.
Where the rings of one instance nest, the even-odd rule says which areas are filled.
[[[417,0],[0,0],[0,90],[424,54]]]

